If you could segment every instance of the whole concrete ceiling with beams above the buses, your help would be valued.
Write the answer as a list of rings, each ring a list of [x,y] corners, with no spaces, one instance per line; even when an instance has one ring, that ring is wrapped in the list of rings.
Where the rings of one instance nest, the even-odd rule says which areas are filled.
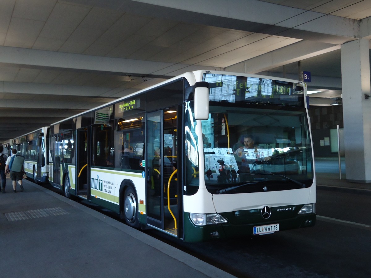
[[[0,143],[197,69],[309,71],[328,105],[370,16],[371,0],[1,0]]]

